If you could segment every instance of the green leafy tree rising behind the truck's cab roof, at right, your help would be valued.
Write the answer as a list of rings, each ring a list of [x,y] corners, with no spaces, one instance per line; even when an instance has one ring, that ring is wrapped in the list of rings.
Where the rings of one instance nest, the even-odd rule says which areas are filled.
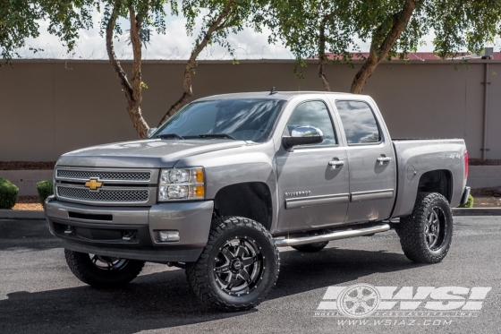
[[[431,29],[436,34],[435,52],[446,58],[466,51],[479,53],[497,35],[501,21],[499,0],[292,0],[273,2],[269,8],[267,25],[274,31],[272,38],[284,40],[300,64],[318,56],[318,76],[326,90],[330,86],[324,64],[352,66],[353,50],[361,56],[352,93],[361,93],[381,62],[415,52]],[[301,16],[291,21],[296,8]],[[355,38],[369,42],[369,56],[361,55]],[[334,59],[327,59],[326,49]]]

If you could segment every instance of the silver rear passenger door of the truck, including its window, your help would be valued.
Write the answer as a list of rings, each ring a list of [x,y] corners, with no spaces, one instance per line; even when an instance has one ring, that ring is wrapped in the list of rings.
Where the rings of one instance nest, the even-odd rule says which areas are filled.
[[[335,107],[350,163],[350,204],[344,222],[389,218],[395,203],[396,167],[383,120],[365,100],[335,100]]]

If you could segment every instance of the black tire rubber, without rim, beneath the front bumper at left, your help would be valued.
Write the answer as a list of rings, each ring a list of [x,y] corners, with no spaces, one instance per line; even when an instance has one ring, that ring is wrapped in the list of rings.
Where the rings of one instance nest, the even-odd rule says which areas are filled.
[[[144,261],[127,260],[117,270],[102,270],[92,263],[88,253],[79,253],[65,249],[64,257],[73,275],[91,287],[123,287],[136,278]]]

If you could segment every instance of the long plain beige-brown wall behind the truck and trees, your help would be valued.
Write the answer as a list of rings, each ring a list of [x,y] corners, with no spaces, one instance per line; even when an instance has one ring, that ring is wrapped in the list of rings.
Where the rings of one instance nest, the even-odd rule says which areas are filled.
[[[379,65],[364,93],[378,103],[394,138],[463,138],[481,158],[485,61],[470,67],[422,62]],[[126,69],[130,63],[123,62]],[[143,114],[156,126],[182,94],[183,62],[143,64]],[[355,69],[327,66],[335,91],[348,91]],[[193,98],[239,91],[322,90],[317,66],[293,73],[292,61],[200,62]],[[490,61],[488,158],[501,158],[501,62]],[[492,75],[498,73],[499,75]],[[53,161],[69,150],[137,138],[112,68],[104,61],[24,60],[0,68],[0,160]]]

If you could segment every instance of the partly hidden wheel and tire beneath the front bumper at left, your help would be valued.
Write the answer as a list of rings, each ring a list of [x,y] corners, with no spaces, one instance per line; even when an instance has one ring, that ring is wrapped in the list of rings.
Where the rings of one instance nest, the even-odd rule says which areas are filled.
[[[92,287],[123,287],[140,274],[144,261],[64,250],[73,275]]]

